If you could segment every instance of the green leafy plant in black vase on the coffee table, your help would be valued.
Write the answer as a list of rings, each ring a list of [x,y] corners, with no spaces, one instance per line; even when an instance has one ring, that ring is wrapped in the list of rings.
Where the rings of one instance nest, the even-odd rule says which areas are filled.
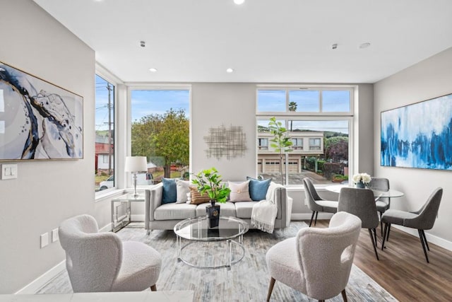
[[[201,195],[208,194],[208,197],[210,197],[210,205],[206,207],[206,214],[209,218],[209,227],[215,228],[220,222],[220,205],[215,204],[215,202],[225,203],[231,192],[230,188],[222,183],[221,175],[215,168],[194,174],[194,179],[191,182],[196,185]]]

